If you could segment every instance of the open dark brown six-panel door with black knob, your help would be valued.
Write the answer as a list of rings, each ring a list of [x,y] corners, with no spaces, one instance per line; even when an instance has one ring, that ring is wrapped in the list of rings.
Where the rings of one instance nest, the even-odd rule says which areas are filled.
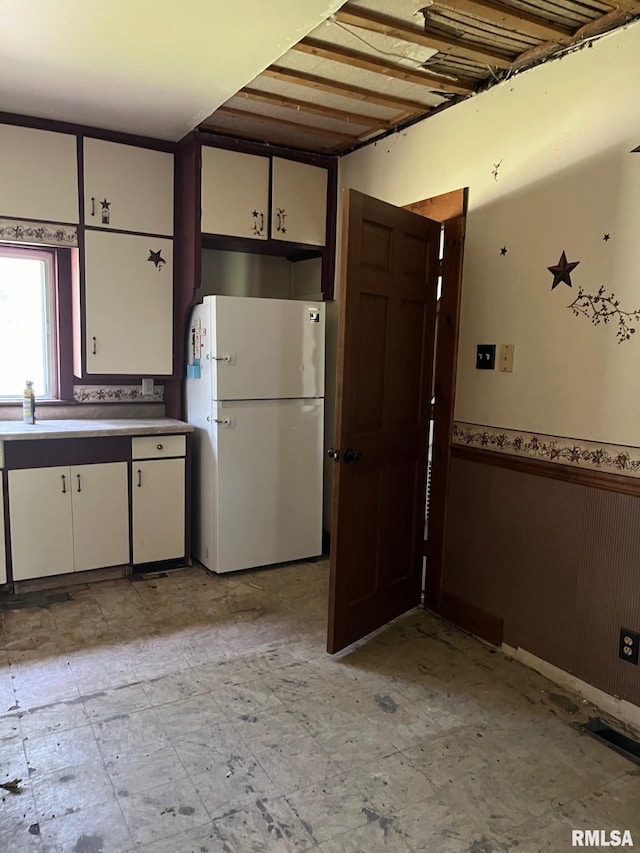
[[[330,653],[420,602],[440,239],[422,216],[345,203]]]

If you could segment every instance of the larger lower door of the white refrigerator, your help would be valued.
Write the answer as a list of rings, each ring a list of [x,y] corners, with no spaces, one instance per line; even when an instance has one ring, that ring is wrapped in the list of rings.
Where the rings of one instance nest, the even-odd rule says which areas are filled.
[[[214,430],[216,572],[322,553],[322,400],[223,403]]]

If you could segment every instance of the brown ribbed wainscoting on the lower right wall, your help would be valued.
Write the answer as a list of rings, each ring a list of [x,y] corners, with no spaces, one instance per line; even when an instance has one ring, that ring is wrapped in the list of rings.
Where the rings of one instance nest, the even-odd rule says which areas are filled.
[[[443,595],[502,620],[508,645],[640,705],[640,667],[618,658],[620,627],[640,630],[640,497],[499,460],[454,447]]]

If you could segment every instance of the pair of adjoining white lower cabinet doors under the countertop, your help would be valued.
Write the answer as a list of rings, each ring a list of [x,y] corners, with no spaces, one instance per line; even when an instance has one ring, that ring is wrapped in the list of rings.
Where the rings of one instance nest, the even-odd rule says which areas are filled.
[[[129,562],[127,463],[9,471],[13,579]]]

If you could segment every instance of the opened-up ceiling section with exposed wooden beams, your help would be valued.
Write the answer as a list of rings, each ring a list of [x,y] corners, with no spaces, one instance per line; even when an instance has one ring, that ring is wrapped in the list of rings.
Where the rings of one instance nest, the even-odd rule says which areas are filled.
[[[202,130],[344,153],[640,16],[640,0],[350,0]]]

